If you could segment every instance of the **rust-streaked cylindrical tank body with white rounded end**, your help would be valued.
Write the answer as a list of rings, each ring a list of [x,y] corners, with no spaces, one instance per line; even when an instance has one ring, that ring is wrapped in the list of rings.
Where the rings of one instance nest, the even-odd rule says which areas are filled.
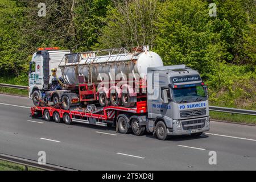
[[[65,62],[59,67],[63,78],[68,85],[78,85],[77,76],[84,76],[97,83],[106,79],[106,75],[110,80],[116,80],[115,76],[119,73],[119,77],[123,79],[138,74],[146,80],[148,67],[162,67],[163,61],[161,57],[152,51],[143,51],[135,53],[118,53],[115,55],[97,56],[95,52],[73,53],[66,55]],[[88,73],[89,72],[89,73]],[[130,75],[130,76],[132,76]]]

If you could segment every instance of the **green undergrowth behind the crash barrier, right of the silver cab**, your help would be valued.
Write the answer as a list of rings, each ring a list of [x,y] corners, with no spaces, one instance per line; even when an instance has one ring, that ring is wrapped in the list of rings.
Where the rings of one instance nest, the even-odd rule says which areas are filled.
[[[255,67],[221,63],[219,68],[206,81],[210,104],[256,109]]]

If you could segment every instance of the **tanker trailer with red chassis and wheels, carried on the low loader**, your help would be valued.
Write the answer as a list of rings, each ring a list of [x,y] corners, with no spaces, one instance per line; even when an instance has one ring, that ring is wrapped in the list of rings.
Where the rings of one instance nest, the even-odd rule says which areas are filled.
[[[80,102],[85,105],[97,100],[101,106],[130,107],[138,96],[146,100],[146,92],[135,92],[134,82],[143,82],[146,89],[147,68],[162,66],[160,56],[144,46],[130,52],[120,48],[69,53],[59,68],[66,85],[79,85]]]

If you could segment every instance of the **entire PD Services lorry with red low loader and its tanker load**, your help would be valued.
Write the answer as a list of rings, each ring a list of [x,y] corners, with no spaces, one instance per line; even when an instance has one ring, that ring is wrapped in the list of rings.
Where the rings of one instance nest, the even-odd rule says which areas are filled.
[[[32,117],[113,126],[122,134],[147,132],[160,140],[209,131],[208,90],[197,71],[163,66],[148,47],[105,51],[36,52],[29,75]]]

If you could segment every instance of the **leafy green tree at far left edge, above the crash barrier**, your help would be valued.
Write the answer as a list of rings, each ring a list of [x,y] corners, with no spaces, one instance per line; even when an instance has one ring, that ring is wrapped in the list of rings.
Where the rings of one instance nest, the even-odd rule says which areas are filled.
[[[0,0],[0,75],[19,76],[27,67],[25,40],[20,34],[24,7]]]

